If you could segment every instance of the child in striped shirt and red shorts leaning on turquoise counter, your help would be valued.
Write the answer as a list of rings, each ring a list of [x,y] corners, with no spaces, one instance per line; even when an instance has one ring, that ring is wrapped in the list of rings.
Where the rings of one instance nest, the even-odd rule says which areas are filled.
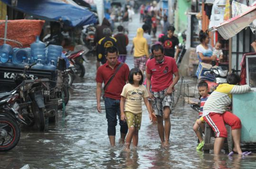
[[[243,154],[240,148],[241,121],[236,115],[227,110],[232,101],[232,94],[246,93],[251,89],[248,85],[239,86],[240,77],[236,74],[232,73],[227,76],[227,81],[228,83],[219,84],[217,89],[211,93],[204,104],[202,116],[203,120],[206,121],[216,133],[214,154],[219,154],[224,140],[228,136],[225,123],[232,129],[231,135],[234,140],[233,152]]]

